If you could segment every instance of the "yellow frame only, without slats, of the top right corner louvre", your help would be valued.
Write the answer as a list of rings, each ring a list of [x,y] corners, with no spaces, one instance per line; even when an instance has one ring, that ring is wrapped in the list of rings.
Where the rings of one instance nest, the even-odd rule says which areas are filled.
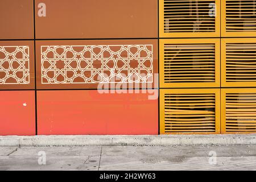
[[[221,37],[255,37],[255,32],[226,32],[226,0],[221,0]]]

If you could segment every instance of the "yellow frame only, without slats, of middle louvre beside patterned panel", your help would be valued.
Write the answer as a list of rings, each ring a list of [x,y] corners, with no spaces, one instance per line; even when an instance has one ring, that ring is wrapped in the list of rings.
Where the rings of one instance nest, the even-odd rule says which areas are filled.
[[[164,83],[164,44],[215,44],[215,82]],[[220,39],[160,39],[159,41],[159,77],[160,88],[204,88],[220,87]]]

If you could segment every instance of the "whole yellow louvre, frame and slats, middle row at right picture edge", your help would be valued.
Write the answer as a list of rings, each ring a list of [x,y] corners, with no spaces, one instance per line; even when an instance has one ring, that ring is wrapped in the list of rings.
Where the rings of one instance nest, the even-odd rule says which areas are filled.
[[[222,86],[256,86],[256,39],[222,39]]]

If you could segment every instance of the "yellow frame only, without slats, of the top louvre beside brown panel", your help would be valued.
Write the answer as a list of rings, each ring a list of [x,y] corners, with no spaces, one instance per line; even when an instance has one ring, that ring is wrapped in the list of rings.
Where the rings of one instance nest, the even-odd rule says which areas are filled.
[[[189,1],[189,0],[188,0]],[[192,0],[196,1],[196,0]],[[164,32],[164,0],[159,0],[159,36],[160,38],[196,38],[196,37],[220,37],[220,13],[221,13],[221,1],[215,0],[216,3],[216,17],[215,17],[215,32]]]

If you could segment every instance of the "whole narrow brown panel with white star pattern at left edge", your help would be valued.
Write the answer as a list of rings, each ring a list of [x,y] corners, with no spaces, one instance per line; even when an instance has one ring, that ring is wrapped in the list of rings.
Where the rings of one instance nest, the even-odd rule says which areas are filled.
[[[0,89],[34,88],[34,43],[0,42]]]

